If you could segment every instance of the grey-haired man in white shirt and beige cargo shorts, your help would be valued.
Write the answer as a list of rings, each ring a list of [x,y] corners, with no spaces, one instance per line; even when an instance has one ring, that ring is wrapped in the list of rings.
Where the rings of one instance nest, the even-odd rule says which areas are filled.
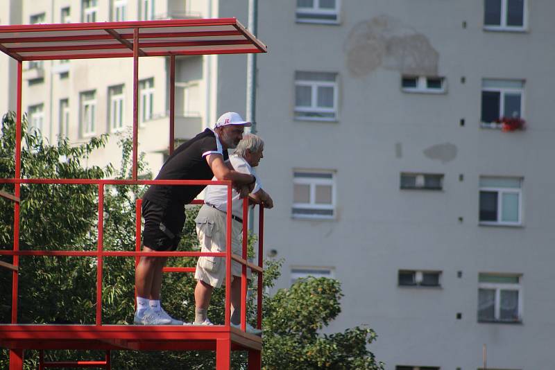
[[[255,176],[254,167],[264,158],[264,141],[255,134],[244,134],[243,139],[229,163],[239,173]],[[254,188],[250,190],[249,199],[264,208],[272,208],[273,200],[262,190],[262,184],[256,179]],[[210,185],[206,188],[205,204],[196,217],[196,232],[200,241],[201,252],[224,252],[226,231],[226,210],[228,191],[225,186]],[[232,252],[241,256],[243,228],[243,200],[235,189],[232,191]],[[242,266],[231,261],[231,325],[239,327],[241,320],[241,276]],[[250,276],[250,270],[248,270]],[[225,260],[221,257],[199,257],[196,264],[195,279],[195,321],[197,325],[212,325],[207,318],[208,305],[212,290],[219,288],[225,280]],[[247,332],[262,335],[262,331],[246,324]]]

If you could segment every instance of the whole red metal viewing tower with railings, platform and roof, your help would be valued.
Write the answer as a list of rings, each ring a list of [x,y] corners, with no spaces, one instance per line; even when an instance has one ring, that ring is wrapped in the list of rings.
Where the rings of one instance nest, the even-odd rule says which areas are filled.
[[[216,369],[230,368],[230,351],[248,351],[248,369],[260,369],[262,340],[246,333],[246,310],[241,312],[241,330],[230,326],[230,288],[225,288],[225,324],[221,326],[130,326],[106,325],[101,317],[101,292],[103,260],[113,256],[153,255],[140,252],[140,204],[137,203],[137,228],[135,252],[110,252],[103,250],[103,195],[106,185],[168,184],[198,185],[219,184],[228,186],[227,250],[222,253],[156,252],[156,256],[221,256],[227,266],[226,279],[230,281],[231,261],[243,265],[241,300],[246,307],[246,269],[257,272],[258,301],[257,327],[262,324],[262,249],[264,241],[264,211],[259,209],[258,263],[247,261],[247,228],[244,227],[243,253],[231,252],[231,182],[187,180],[138,180],[138,71],[139,57],[167,56],[170,59],[170,137],[169,150],[173,151],[174,88],[176,55],[266,53],[266,46],[251,35],[234,18],[182,19],[163,21],[122,21],[85,24],[35,24],[26,26],[0,26],[0,51],[17,60],[17,128],[15,148],[15,178],[0,179],[0,184],[14,184],[15,194],[0,192],[0,197],[14,204],[14,245],[12,250],[0,255],[12,256],[12,263],[0,261],[0,267],[12,271],[11,324],[0,324],[0,346],[10,349],[10,370],[22,370],[24,351],[38,349],[40,369],[44,367],[105,367],[110,369],[112,350],[215,350]],[[96,58],[133,58],[133,178],[113,179],[22,179],[22,64],[30,60],[66,60]],[[94,252],[45,251],[19,249],[19,209],[21,184],[94,184],[99,188],[98,247]],[[247,220],[247,201],[244,201],[244,220]],[[19,256],[92,256],[96,258],[96,324],[94,325],[28,325],[17,324],[17,296]],[[192,272],[192,267],[167,267],[164,271]],[[46,349],[98,349],[106,351],[102,361],[44,362]]]

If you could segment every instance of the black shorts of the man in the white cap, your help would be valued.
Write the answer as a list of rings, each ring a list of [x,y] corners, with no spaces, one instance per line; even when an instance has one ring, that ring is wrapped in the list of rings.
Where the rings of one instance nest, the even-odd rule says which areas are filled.
[[[175,251],[185,224],[185,207],[169,204],[160,206],[143,201],[143,245],[155,251]]]

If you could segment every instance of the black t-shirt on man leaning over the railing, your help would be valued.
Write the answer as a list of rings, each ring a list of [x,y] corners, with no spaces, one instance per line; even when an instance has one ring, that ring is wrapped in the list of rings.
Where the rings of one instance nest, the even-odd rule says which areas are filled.
[[[210,154],[222,155],[224,161],[228,159],[228,151],[222,149],[214,131],[207,128],[174,150],[156,179],[210,180],[214,177],[214,173],[205,158]],[[185,205],[194,200],[204,188],[205,185],[151,185],[144,194],[144,199],[162,206]]]

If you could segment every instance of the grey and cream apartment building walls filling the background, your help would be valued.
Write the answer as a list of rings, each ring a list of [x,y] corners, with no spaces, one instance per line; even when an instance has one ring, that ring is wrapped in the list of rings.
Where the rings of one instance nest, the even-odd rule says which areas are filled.
[[[61,19],[62,2],[45,6],[47,22]],[[122,3],[128,19],[151,6],[67,3],[71,21],[87,19],[91,4],[99,21],[115,20]],[[247,19],[247,1],[153,4],[154,17]],[[341,281],[342,313],[329,330],[375,328],[371,348],[387,370],[481,369],[484,344],[488,369],[552,369],[555,130],[546,91],[555,3],[258,5],[268,44],[257,57],[257,131],[266,141],[258,172],[275,200],[265,249],[285,258],[277,288],[309,275]],[[24,23],[40,13],[29,6]],[[44,82],[24,89],[31,122],[43,104],[42,132],[65,130],[64,91],[72,140],[130,125],[129,61],[48,63]],[[167,61],[141,65],[139,150],[155,173],[167,150]],[[244,113],[245,55],[178,59],[177,75],[178,138],[221,112]],[[100,118],[87,121],[91,111]]]

